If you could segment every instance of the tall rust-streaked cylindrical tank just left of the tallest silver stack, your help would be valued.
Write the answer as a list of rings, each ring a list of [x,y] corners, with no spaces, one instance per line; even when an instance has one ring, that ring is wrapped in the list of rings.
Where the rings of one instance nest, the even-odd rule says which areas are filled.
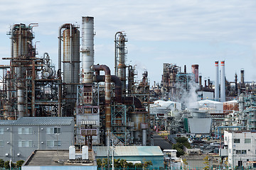
[[[67,86],[67,97],[75,98],[74,84],[79,84],[80,72],[80,32],[71,24],[70,27],[63,30],[63,82],[71,84]]]

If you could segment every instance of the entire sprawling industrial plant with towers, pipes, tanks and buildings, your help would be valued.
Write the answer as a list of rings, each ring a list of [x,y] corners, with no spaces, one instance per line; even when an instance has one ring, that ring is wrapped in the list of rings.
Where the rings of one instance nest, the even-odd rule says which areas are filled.
[[[211,80],[202,78],[199,64],[191,64],[188,72],[186,65],[182,69],[177,64],[164,63],[161,82],[150,85],[150,72],[143,72],[138,80],[136,67],[126,62],[128,39],[124,31],[117,30],[113,35],[114,69],[95,63],[94,18],[90,16],[82,17],[81,28],[73,23],[59,27],[55,68],[50,53],[38,57],[33,42],[36,26],[37,23],[18,23],[8,32],[10,57],[2,59],[10,64],[0,65],[0,159],[16,162],[26,160],[34,150],[32,155],[43,155],[46,150],[58,154],[62,149],[62,159],[68,160],[58,164],[84,162],[94,169],[97,164],[93,150],[98,151],[96,157],[107,157],[109,163],[112,147],[112,157],[116,154],[119,159],[128,160],[137,156],[141,161],[149,157],[157,166],[164,166],[165,162],[169,168],[168,164],[173,164],[174,169],[184,166],[183,159],[177,161],[176,154],[164,159],[162,150],[172,149],[178,137],[186,137],[193,149],[198,149],[184,149],[188,155],[218,154],[221,164],[227,160],[232,167],[255,162],[256,154],[248,154],[255,148],[228,152],[238,142],[234,134],[254,134],[256,130],[256,83],[245,81],[246,69],[240,69],[240,80],[235,73],[234,80],[228,81],[228,61],[215,61],[215,77]],[[156,143],[154,135],[159,132],[167,133],[162,140],[170,147]],[[219,144],[210,146],[206,141],[203,145],[203,140]],[[252,147],[256,144],[249,137],[245,140]],[[63,151],[68,147],[73,156],[70,150]],[[84,154],[75,153],[85,147],[90,161],[81,159]],[[38,159],[33,157],[26,166],[36,165]],[[130,161],[137,161],[134,159]],[[49,164],[57,164],[52,161],[48,159]],[[114,161],[112,164],[114,167]],[[256,162],[253,164],[256,166]]]

